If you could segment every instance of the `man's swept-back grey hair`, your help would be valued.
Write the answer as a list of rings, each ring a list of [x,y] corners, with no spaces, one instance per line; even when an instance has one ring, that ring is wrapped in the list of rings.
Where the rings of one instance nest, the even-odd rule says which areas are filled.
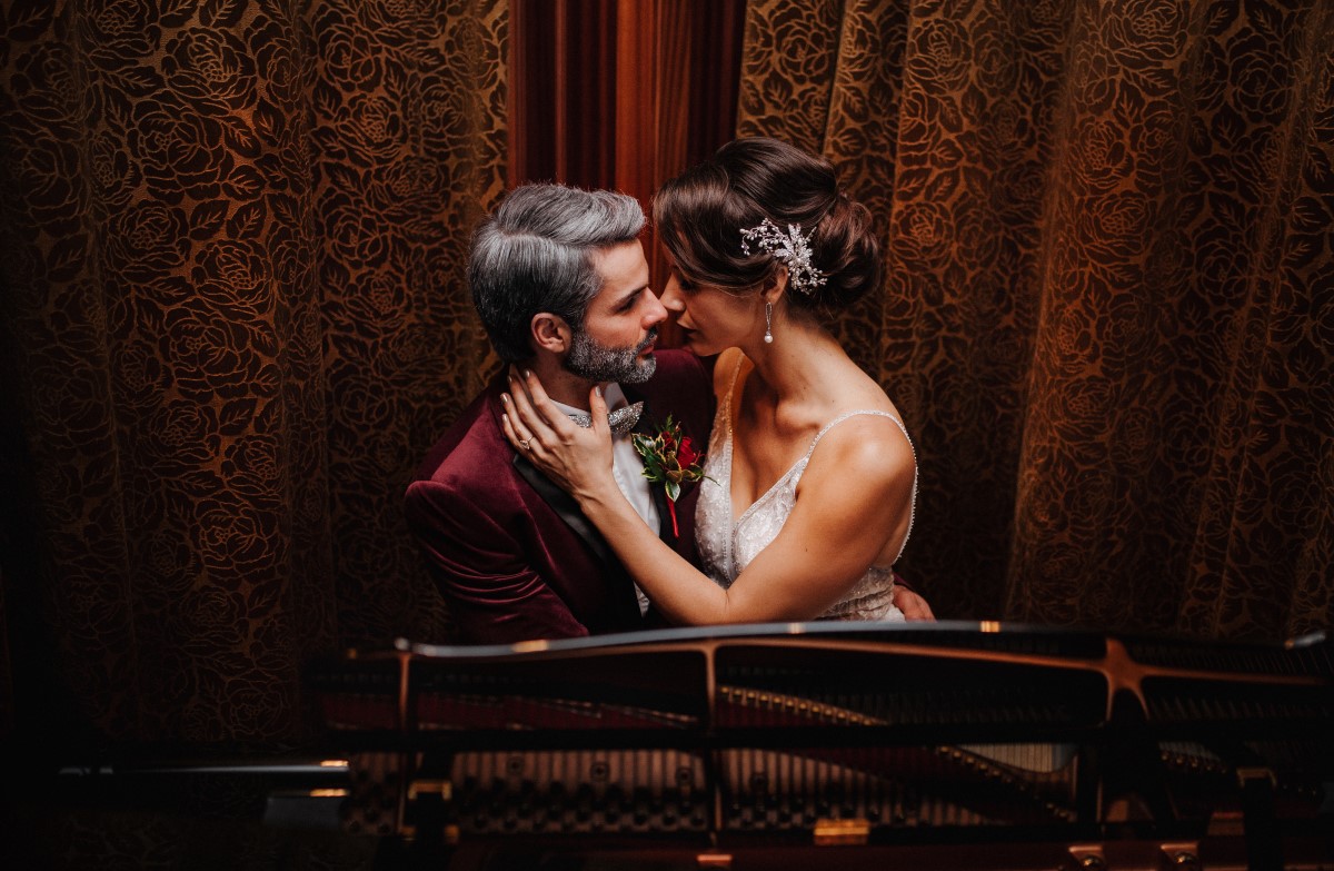
[[[582,329],[602,290],[592,254],[634,242],[644,227],[639,200],[614,191],[524,184],[472,236],[472,303],[504,362],[532,357],[528,326],[539,311]]]

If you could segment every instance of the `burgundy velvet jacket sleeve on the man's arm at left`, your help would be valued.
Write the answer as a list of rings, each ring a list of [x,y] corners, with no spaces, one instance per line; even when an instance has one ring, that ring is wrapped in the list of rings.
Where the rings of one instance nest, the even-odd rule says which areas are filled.
[[[504,518],[436,481],[410,485],[404,513],[450,605],[459,641],[512,644],[588,635],[531,565]]]

